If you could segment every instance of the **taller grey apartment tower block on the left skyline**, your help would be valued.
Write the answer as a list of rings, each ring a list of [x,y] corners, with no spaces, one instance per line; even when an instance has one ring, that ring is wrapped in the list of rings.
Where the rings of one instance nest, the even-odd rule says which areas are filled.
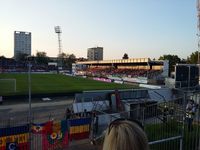
[[[14,32],[14,58],[21,54],[31,55],[31,32]]]

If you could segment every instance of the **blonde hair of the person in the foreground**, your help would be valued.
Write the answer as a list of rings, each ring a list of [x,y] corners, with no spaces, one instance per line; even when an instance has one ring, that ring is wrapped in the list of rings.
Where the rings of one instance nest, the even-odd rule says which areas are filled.
[[[109,125],[103,150],[149,150],[146,134],[136,123],[128,120]]]

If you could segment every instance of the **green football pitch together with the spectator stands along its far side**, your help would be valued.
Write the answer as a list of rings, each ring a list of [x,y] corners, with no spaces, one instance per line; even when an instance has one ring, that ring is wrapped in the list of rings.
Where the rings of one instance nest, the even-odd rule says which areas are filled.
[[[2,96],[28,94],[28,70],[25,66],[26,64],[17,67],[13,63],[2,65]],[[31,90],[33,95],[67,95],[87,90],[135,88],[140,83],[164,84],[164,77],[169,74],[167,68],[167,61],[151,61],[149,58],[87,61],[73,64],[70,75],[57,74],[48,66],[41,69],[33,64]]]

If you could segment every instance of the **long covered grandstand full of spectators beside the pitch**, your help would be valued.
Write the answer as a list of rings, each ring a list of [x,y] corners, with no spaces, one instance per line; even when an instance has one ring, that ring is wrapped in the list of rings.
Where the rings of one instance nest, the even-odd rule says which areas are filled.
[[[76,62],[72,70],[75,75],[109,78],[113,81],[156,83],[168,76],[169,63],[150,58],[84,61]]]

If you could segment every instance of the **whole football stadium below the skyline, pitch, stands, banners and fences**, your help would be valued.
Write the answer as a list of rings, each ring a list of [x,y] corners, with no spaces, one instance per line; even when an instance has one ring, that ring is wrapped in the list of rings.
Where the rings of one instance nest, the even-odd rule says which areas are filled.
[[[194,149],[199,143],[198,111],[192,123],[184,111],[188,101],[199,103],[196,66],[177,65],[170,80],[168,61],[149,58],[76,62],[71,74],[34,64],[30,70],[26,64],[5,66],[1,111],[9,113],[0,115],[2,148],[77,149],[82,143],[81,149],[98,149],[117,118],[139,120],[151,149]]]

